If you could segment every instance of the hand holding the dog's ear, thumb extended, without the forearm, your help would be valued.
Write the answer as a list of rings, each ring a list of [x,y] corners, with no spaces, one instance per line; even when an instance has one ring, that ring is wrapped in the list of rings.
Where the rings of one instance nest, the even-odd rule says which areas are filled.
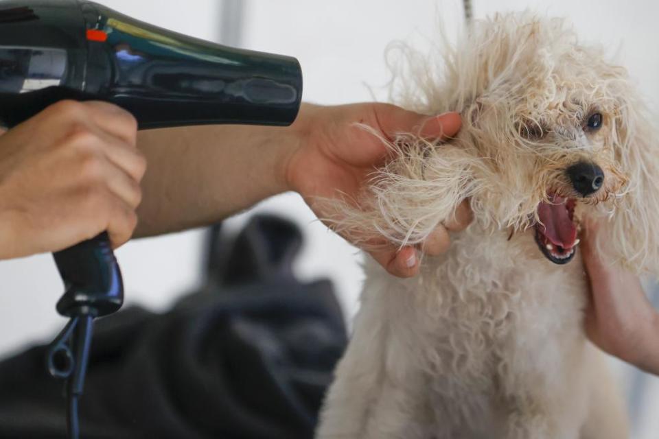
[[[341,194],[357,198],[375,168],[389,157],[386,145],[356,123],[371,126],[384,137],[420,130],[429,139],[450,137],[461,126],[457,113],[429,117],[389,104],[305,104],[300,119],[296,125],[302,132],[301,141],[288,157],[286,179],[288,186],[300,193],[321,218],[323,207],[315,204],[314,198],[337,198]],[[422,248],[398,248],[383,239],[378,250],[370,253],[389,273],[414,276],[419,271],[417,252],[445,252],[450,246],[448,232],[463,230],[471,221],[472,213],[467,202],[463,202],[456,210],[455,220],[435,229]]]

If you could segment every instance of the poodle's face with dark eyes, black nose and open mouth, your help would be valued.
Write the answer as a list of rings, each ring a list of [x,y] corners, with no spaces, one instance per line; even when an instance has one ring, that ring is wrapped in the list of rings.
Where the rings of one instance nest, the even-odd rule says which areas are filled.
[[[565,93],[568,102],[553,103],[544,114],[524,115],[520,136],[537,148],[535,187],[546,196],[537,207],[535,241],[553,263],[568,263],[579,244],[577,205],[607,202],[621,193],[627,179],[616,163],[616,109],[594,91],[589,98]],[[534,121],[538,121],[535,123]],[[546,124],[546,125],[543,125]],[[543,143],[544,152],[543,152]]]

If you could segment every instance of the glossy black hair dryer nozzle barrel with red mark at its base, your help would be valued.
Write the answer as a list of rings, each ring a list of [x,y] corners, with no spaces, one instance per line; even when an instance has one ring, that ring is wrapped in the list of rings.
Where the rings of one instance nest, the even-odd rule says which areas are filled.
[[[95,3],[84,4],[83,15],[98,40],[89,42],[85,93],[106,95],[141,128],[288,125],[297,115],[302,73],[295,58],[216,45]]]

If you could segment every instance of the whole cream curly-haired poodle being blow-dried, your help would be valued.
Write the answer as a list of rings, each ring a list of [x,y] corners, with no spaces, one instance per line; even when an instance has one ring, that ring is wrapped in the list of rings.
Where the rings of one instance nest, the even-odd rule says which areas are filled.
[[[459,134],[372,130],[392,159],[327,220],[365,248],[382,237],[422,245],[463,200],[474,221],[415,278],[367,261],[316,437],[625,438],[623,399],[583,330],[578,247],[592,219],[605,261],[656,273],[651,114],[625,69],[562,19],[474,21],[441,53],[435,65],[407,51],[394,100],[460,112]]]

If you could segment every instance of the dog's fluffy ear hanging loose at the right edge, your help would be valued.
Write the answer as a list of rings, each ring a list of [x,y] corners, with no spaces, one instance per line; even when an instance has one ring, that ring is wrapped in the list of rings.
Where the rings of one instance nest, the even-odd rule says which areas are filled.
[[[618,90],[614,152],[628,179],[604,221],[599,248],[636,273],[659,274],[659,130],[642,99],[627,85]]]

